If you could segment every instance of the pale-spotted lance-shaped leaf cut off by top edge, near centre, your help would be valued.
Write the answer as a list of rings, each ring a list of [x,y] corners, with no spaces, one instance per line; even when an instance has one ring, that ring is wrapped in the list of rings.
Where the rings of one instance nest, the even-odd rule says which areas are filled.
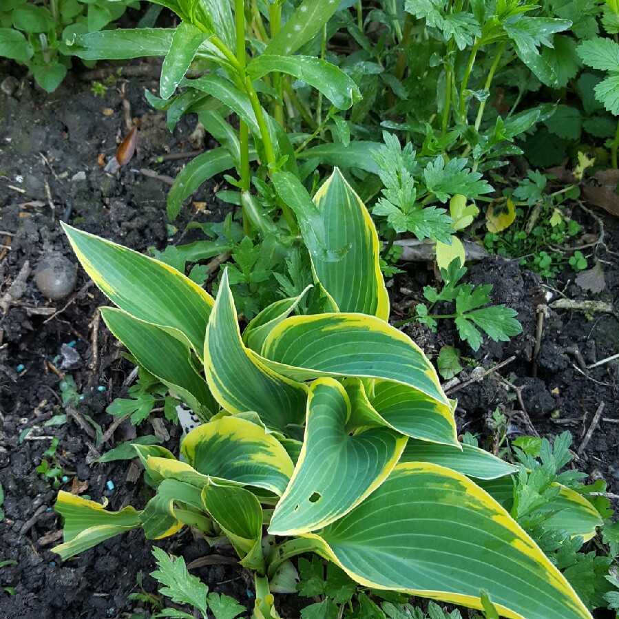
[[[338,6],[338,0],[304,0],[280,32],[273,36],[264,54],[293,54],[322,30]]]

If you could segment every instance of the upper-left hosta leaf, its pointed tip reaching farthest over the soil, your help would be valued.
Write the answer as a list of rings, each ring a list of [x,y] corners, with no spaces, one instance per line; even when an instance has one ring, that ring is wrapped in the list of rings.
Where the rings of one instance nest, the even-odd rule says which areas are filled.
[[[213,297],[171,266],[61,222],[86,273],[109,300],[145,322],[183,334],[202,357]]]

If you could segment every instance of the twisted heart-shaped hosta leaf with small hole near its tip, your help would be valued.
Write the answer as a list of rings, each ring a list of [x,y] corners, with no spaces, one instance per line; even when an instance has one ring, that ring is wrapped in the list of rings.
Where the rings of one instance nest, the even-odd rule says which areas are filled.
[[[406,437],[384,426],[350,436],[350,410],[341,384],[313,382],[303,448],[269,533],[300,534],[332,523],[361,503],[397,464]]]

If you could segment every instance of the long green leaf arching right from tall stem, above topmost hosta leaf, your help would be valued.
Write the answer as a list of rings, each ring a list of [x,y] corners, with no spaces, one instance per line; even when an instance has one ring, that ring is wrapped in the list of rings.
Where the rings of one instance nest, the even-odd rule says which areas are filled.
[[[276,56],[260,54],[247,65],[252,79],[281,72],[308,83],[322,92],[338,109],[348,109],[360,101],[357,84],[341,69],[315,56]]]

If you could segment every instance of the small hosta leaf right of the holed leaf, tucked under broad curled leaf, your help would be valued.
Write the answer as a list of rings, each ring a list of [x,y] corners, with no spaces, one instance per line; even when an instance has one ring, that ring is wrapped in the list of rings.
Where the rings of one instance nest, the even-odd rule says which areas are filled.
[[[386,423],[402,434],[461,448],[452,403],[437,402],[408,385],[375,381],[370,405]]]

